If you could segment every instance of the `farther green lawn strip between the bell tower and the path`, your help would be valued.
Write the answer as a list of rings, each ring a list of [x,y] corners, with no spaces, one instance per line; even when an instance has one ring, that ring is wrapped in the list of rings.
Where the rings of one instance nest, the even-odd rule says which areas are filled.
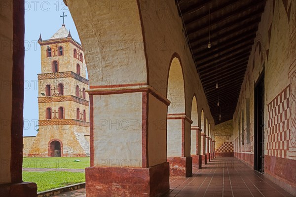
[[[79,162],[74,161],[80,160]],[[89,158],[23,158],[23,168],[75,168],[89,167]]]

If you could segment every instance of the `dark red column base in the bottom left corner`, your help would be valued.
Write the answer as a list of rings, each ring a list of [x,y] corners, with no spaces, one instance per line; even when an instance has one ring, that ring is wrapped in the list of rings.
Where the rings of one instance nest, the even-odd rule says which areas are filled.
[[[37,197],[37,185],[31,182],[1,184],[0,197]]]

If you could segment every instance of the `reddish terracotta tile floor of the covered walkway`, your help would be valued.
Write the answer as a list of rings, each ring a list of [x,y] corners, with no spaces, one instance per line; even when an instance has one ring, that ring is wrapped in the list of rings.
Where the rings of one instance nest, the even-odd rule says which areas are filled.
[[[166,197],[293,197],[236,158],[215,158],[189,178],[171,178]],[[56,197],[85,197],[85,189]],[[99,197],[99,196],[98,196]]]

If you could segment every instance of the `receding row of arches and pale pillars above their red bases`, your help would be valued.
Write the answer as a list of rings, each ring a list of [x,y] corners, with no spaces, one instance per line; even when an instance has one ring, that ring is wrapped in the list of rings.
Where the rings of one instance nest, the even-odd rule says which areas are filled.
[[[167,118],[168,158],[176,156],[190,157],[213,152],[213,128],[208,117],[204,114],[204,109],[198,109],[198,98],[196,96],[198,94],[197,92],[193,93],[193,97],[191,97],[191,113],[186,114],[185,91],[182,62],[178,55],[175,54],[171,59],[167,84],[167,98],[171,101],[171,104],[168,106]],[[186,116],[192,121],[186,120]],[[180,121],[177,117],[180,117],[179,119],[184,117],[184,120]],[[178,124],[182,125],[178,126]],[[198,128],[204,134],[202,137],[206,137],[207,139],[201,140],[200,133],[198,134],[196,132]],[[181,130],[182,134],[180,133]],[[188,139],[190,139],[190,147],[185,145],[188,143]]]

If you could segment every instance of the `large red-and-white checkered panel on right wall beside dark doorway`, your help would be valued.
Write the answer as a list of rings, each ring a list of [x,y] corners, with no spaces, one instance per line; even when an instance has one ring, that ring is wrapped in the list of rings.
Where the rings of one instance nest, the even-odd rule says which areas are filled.
[[[290,86],[268,105],[267,155],[287,158],[289,151]]]

